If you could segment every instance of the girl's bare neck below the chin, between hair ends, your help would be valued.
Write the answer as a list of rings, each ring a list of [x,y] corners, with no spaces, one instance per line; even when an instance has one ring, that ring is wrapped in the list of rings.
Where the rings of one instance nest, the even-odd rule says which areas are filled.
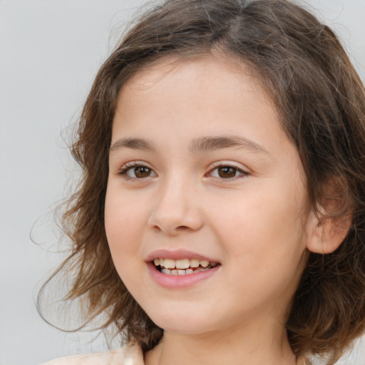
[[[205,334],[175,334],[165,331],[160,344],[145,356],[146,365],[295,365],[282,324],[270,331],[267,323],[239,330]]]

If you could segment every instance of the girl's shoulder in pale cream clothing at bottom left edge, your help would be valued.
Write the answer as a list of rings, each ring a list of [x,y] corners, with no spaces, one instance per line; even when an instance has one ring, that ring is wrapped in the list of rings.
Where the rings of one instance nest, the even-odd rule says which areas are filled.
[[[66,356],[42,365],[143,365],[143,354],[136,344],[98,354]]]

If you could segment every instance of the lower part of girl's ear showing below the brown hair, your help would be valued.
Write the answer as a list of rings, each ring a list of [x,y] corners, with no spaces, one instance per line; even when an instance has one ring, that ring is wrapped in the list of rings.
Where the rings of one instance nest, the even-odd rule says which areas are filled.
[[[329,254],[339,248],[351,227],[351,214],[341,217],[318,217],[313,211],[307,221],[307,249]]]

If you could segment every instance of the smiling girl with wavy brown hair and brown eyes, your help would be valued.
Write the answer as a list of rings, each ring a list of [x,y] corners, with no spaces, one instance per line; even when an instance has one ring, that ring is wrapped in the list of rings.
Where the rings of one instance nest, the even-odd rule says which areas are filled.
[[[364,86],[302,7],[148,11],[72,153],[66,299],[127,344],[49,364],[330,365],[364,332]]]

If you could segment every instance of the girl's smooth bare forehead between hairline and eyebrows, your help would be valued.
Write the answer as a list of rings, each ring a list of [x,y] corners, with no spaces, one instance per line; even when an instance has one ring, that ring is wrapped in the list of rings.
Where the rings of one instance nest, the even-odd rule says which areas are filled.
[[[224,58],[165,59],[137,73],[118,96],[116,140],[143,138],[156,146],[189,145],[206,137],[238,136],[263,150],[286,145],[277,108],[250,68]]]

